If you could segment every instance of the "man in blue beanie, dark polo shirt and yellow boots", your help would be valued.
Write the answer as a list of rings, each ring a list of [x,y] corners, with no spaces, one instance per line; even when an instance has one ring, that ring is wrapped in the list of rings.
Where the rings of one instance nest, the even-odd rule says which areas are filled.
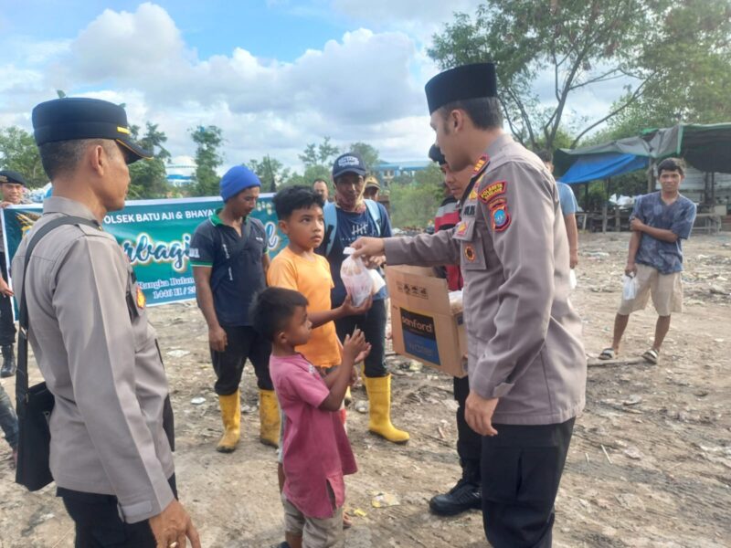
[[[201,223],[190,241],[190,262],[196,279],[196,300],[208,324],[208,343],[217,381],[224,434],[217,450],[230,453],[240,436],[238,384],[247,359],[254,364],[260,395],[260,440],[277,447],[280,411],[269,374],[270,343],[249,320],[254,296],[266,287],[267,236],[259,219],[249,214],[261,183],[249,168],[237,165],[220,182],[224,206]]]

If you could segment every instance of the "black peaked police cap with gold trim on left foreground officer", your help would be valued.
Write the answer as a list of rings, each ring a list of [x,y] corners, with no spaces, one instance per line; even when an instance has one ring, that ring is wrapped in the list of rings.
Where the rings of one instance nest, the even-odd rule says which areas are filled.
[[[47,142],[111,139],[132,154],[131,162],[152,158],[131,139],[124,109],[106,100],[83,97],[42,102],[33,109],[33,129],[38,146]]]

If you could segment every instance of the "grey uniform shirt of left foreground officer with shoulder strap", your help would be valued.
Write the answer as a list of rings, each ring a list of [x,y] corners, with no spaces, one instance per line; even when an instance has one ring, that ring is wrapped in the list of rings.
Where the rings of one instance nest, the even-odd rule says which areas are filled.
[[[36,227],[60,215],[94,219],[85,205],[50,197]],[[18,299],[28,237],[13,259]],[[50,469],[58,487],[115,495],[125,522],[159,514],[174,498],[168,386],[122,248],[93,227],[55,228],[33,251],[25,290],[29,341],[56,396]]]

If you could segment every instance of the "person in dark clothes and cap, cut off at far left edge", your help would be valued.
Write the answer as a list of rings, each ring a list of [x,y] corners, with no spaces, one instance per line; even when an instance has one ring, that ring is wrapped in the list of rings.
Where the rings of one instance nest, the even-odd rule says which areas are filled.
[[[16,171],[5,169],[0,171],[0,192],[3,201],[0,206],[20,204],[23,197],[23,187],[26,180]],[[3,351],[3,366],[0,368],[0,377],[9,377],[16,374],[16,354],[13,346],[16,343],[16,323],[13,321],[13,290],[7,283],[7,269],[5,267],[5,239],[0,228],[0,269],[3,278],[0,279],[0,348]]]

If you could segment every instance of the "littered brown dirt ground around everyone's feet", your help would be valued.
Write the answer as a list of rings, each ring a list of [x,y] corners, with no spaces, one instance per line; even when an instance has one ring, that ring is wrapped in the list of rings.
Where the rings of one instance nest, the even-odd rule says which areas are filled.
[[[652,308],[630,320],[616,364],[595,357],[609,342],[620,300],[628,234],[582,235],[573,301],[585,326],[587,408],[577,419],[556,501],[556,547],[731,546],[731,235],[684,244],[685,311],[673,317],[661,363],[636,358],[649,348]],[[175,463],[181,498],[204,546],[269,547],[282,539],[274,450],[258,441],[256,386],[243,381],[238,450],[214,450],[221,426],[205,323],[192,303],[150,310],[166,360],[176,414]],[[482,515],[429,514],[427,502],[460,469],[451,379],[389,358],[394,422],[411,441],[391,445],[366,432],[351,410],[349,432],[360,471],[347,479],[354,527],[347,546],[487,546]],[[12,392],[13,379],[3,379]],[[362,388],[355,400],[365,399]],[[202,405],[191,400],[205,398]],[[351,408],[352,409],[352,408]],[[0,443],[0,547],[73,545],[72,523],[54,490],[17,486]],[[377,493],[398,505],[375,508]]]

